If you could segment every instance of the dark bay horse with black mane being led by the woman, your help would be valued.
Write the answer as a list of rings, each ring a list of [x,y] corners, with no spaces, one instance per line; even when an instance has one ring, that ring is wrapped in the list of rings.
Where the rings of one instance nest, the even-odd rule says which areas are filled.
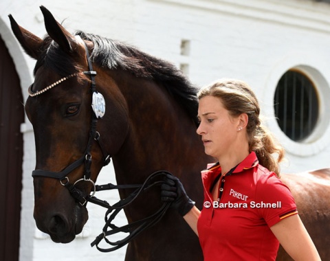
[[[46,8],[41,7],[41,11],[48,33],[44,39],[17,25],[10,16],[19,43],[36,59],[25,111],[36,143],[37,227],[54,242],[63,243],[71,242],[82,231],[87,208],[70,194],[67,184],[74,184],[83,196],[89,195],[94,183],[83,177],[88,173],[90,180],[96,181],[104,151],[111,155],[118,184],[143,183],[152,172],[168,170],[181,179],[201,208],[200,171],[212,159],[204,154],[196,133],[197,89],[164,60],[94,34],[78,32],[74,36]],[[99,102],[93,112],[96,92],[91,90],[95,88],[104,96],[97,98],[105,103]],[[97,124],[94,113],[103,116]],[[100,139],[91,139],[95,131]],[[283,180],[292,188],[300,216],[321,256],[329,258],[329,170],[308,176],[283,174]],[[130,193],[128,188],[120,190],[120,198]],[[124,211],[128,222],[133,223],[161,205],[159,188],[155,188],[142,193]],[[280,250],[278,260],[287,260],[285,255]],[[129,242],[126,260],[203,257],[197,236],[183,218],[168,209],[156,225]]]

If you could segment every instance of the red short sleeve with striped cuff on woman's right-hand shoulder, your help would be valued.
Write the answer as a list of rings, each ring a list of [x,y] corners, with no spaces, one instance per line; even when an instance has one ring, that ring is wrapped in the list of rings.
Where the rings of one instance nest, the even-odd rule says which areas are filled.
[[[284,218],[298,214],[296,202],[287,185],[276,174],[262,175],[256,187],[256,203],[268,227]]]

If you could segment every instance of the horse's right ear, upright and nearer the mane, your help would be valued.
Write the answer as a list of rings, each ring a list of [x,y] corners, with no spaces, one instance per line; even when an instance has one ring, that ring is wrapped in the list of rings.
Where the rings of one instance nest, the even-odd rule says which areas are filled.
[[[58,43],[63,51],[71,53],[72,45],[76,44],[74,36],[67,32],[67,30],[65,30],[65,28],[54,19],[54,16],[49,10],[47,10],[47,8],[41,5],[40,9],[41,12],[43,12],[46,31],[50,35],[50,38]]]

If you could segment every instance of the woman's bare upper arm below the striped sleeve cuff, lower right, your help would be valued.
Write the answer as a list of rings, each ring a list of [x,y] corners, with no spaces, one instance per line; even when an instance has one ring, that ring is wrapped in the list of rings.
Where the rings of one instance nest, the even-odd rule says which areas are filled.
[[[289,216],[270,227],[270,229],[294,260],[321,260],[314,242],[298,215]]]

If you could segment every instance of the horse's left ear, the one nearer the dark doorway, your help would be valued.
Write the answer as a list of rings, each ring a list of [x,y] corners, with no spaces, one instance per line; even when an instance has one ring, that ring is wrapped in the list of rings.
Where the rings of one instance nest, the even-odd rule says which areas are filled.
[[[9,19],[12,32],[16,36],[25,52],[32,58],[38,59],[40,54],[40,47],[43,44],[43,39],[19,26],[11,14],[9,15]]]

